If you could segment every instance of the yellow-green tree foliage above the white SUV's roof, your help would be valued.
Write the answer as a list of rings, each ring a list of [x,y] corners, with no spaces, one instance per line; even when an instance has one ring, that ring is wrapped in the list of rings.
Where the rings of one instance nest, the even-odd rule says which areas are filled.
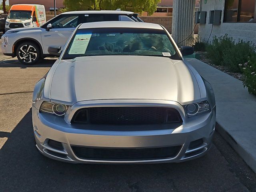
[[[147,11],[149,15],[156,11],[160,0],[64,0],[68,10],[121,10],[142,13]]]

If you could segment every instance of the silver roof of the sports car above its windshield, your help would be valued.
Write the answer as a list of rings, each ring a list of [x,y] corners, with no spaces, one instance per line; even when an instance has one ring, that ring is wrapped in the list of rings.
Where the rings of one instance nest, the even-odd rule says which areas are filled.
[[[78,29],[87,28],[148,28],[163,30],[162,26],[160,26],[159,24],[131,21],[102,21],[83,23],[79,26]]]

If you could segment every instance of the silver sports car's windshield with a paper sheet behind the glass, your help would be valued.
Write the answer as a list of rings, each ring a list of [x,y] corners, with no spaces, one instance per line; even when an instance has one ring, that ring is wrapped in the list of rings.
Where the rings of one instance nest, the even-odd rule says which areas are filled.
[[[79,29],[63,59],[97,55],[167,56],[180,59],[164,30],[143,28]]]

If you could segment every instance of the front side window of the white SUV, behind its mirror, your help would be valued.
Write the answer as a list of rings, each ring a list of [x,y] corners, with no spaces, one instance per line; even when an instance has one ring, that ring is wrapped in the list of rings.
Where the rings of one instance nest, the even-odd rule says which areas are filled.
[[[62,15],[52,21],[52,28],[71,28],[80,24],[79,15]]]

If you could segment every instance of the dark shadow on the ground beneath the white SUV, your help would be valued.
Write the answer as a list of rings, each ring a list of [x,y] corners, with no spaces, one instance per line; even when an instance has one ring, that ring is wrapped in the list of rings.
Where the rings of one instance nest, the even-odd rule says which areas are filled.
[[[8,59],[0,61],[0,67],[20,67],[20,68],[30,68],[30,67],[51,67],[57,58],[42,59],[39,60],[37,64],[34,65],[24,65],[19,62],[18,59]]]

